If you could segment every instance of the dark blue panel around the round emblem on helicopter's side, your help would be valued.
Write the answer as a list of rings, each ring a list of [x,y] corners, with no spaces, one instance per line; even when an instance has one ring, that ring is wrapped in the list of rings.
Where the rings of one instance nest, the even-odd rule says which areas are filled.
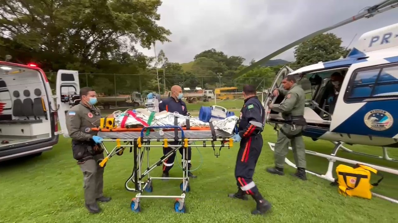
[[[398,134],[398,100],[384,100],[367,102],[350,117],[343,121],[332,132],[346,133],[352,135],[365,135],[365,136],[379,136],[392,138]],[[392,123],[391,127],[386,130],[373,130],[365,124],[365,116],[372,110],[383,110],[392,116],[392,119],[387,120]],[[376,115],[377,116],[377,115]],[[377,120],[381,121],[381,120]],[[384,122],[385,123],[385,122]],[[377,123],[376,123],[377,124]],[[381,125],[381,124],[380,124]]]

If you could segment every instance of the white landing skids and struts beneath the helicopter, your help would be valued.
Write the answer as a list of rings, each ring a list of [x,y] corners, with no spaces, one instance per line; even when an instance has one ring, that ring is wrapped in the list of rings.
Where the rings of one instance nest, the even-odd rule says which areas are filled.
[[[326,179],[328,181],[332,181],[333,182],[334,181],[334,177],[333,177],[332,173],[334,171],[334,168],[333,168],[334,162],[340,161],[340,162],[350,163],[350,164],[354,164],[354,165],[357,164],[357,163],[360,163],[360,164],[363,164],[363,165],[368,165],[370,167],[373,167],[373,168],[377,169],[378,171],[383,171],[383,172],[387,172],[387,173],[392,173],[392,174],[398,175],[398,170],[397,169],[392,169],[392,168],[388,168],[388,167],[382,167],[382,166],[377,166],[377,165],[373,165],[373,164],[369,164],[369,163],[363,163],[363,162],[360,162],[360,161],[349,160],[349,159],[337,157],[336,154],[337,154],[339,148],[343,147],[342,146],[343,142],[334,142],[334,144],[335,144],[335,146],[333,148],[332,154],[330,154],[330,155],[314,152],[314,151],[311,151],[311,150],[305,150],[306,154],[319,156],[319,157],[326,158],[326,159],[329,160],[328,170],[326,171],[325,174],[318,174],[318,173],[314,173],[312,171],[306,170],[307,173],[310,173],[310,174],[315,175],[317,177],[320,177],[322,179]],[[268,145],[271,148],[271,150],[274,151],[275,143],[268,142]],[[347,148],[345,148],[345,149],[347,149]],[[290,146],[289,146],[289,150],[292,150],[292,148]],[[350,151],[352,151],[352,150],[350,150]],[[383,151],[384,151],[384,148],[383,148]],[[368,155],[368,154],[362,154],[362,155],[372,156],[372,155]],[[379,158],[378,156],[376,156],[376,157]],[[296,165],[293,162],[291,162],[288,158],[285,158],[285,163],[287,163],[291,167],[297,168]],[[373,192],[372,192],[372,194],[373,194],[373,196],[376,196],[376,197],[379,197],[379,198],[382,198],[382,199],[385,199],[385,200],[388,200],[390,202],[398,204],[398,200],[396,200],[394,198],[389,198],[389,197],[383,196],[381,194],[376,194],[376,193],[373,193]]]

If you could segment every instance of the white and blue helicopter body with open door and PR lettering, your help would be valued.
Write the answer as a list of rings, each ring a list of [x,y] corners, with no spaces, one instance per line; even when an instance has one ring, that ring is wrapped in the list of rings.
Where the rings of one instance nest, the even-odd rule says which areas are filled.
[[[330,112],[330,75],[339,72],[341,83],[334,111]],[[285,66],[278,73],[267,104],[286,75],[294,75],[306,95],[303,132],[313,140],[398,148],[398,23],[364,33],[344,59],[319,62],[296,71]],[[283,77],[283,78],[282,78]],[[314,81],[314,79],[318,78]],[[329,88],[330,89],[330,88]],[[332,88],[333,89],[333,88]],[[282,124],[280,114],[267,116],[268,123]]]

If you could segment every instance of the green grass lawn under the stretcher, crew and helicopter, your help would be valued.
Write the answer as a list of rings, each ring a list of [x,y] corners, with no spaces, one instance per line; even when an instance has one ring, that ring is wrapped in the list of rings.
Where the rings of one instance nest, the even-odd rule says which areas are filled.
[[[216,158],[209,147],[200,148],[201,155],[193,148],[193,166],[197,179],[191,179],[191,192],[187,194],[187,214],[177,214],[173,210],[173,199],[143,198],[142,213],[130,210],[131,198],[135,193],[127,192],[124,183],[131,174],[133,155],[125,152],[109,160],[104,175],[104,192],[112,196],[112,201],[101,204],[103,212],[89,214],[84,208],[82,173],[72,158],[70,139],[60,137],[59,144],[50,152],[39,157],[12,160],[1,164],[0,176],[0,222],[1,223],[113,223],[113,222],[398,222],[398,205],[380,198],[364,200],[361,198],[343,197],[336,187],[328,181],[309,175],[308,181],[294,179],[290,175],[274,176],[265,172],[267,166],[273,165],[273,153],[267,141],[275,142],[276,134],[267,126],[264,131],[264,147],[259,158],[254,180],[273,204],[273,211],[266,216],[252,216],[250,211],[255,207],[252,198],[249,201],[231,200],[228,192],[236,190],[234,179],[234,162],[237,145],[234,148],[222,149],[221,156]],[[200,144],[200,143],[199,143]],[[113,144],[109,144],[109,148]],[[318,140],[313,142],[306,138],[308,150],[330,153],[333,145]],[[361,152],[381,154],[381,149],[355,146],[349,147]],[[398,158],[398,150],[391,149],[391,156]],[[161,156],[161,149],[152,149],[151,161]],[[340,152],[340,156],[357,160],[379,163],[398,168],[398,164],[388,164],[383,160],[354,156]],[[289,154],[291,158],[291,154]],[[323,172],[327,161],[307,156],[309,169]],[[178,154],[177,161],[181,160]],[[144,163],[143,165],[146,165]],[[293,173],[293,168],[287,168]],[[181,169],[175,165],[170,177],[179,177]],[[161,175],[161,169],[155,169],[153,176]],[[373,176],[373,181],[376,177]],[[179,195],[179,180],[167,183],[154,181],[153,194]],[[398,178],[385,174],[374,192],[398,199]],[[148,193],[147,193],[148,194]]]

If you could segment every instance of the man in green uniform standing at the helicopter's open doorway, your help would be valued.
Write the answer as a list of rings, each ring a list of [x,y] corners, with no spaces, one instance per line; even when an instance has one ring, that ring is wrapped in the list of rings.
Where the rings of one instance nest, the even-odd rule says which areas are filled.
[[[269,108],[275,112],[281,112],[285,124],[279,129],[278,139],[275,144],[275,167],[267,168],[267,172],[284,175],[283,166],[285,157],[289,151],[289,142],[293,148],[293,155],[297,171],[293,176],[306,180],[305,146],[302,138],[302,131],[306,127],[304,119],[305,93],[297,85],[293,75],[287,75],[282,81],[283,88],[275,89],[273,95],[285,96],[281,104],[270,104]]]

